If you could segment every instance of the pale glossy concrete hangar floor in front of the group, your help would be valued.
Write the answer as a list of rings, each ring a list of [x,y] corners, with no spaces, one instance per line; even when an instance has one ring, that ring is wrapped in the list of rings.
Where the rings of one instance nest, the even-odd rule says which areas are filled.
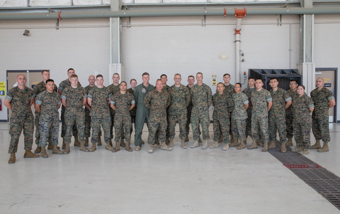
[[[72,145],[68,155],[48,150],[46,159],[23,158],[21,136],[14,164],[7,163],[8,129],[0,123],[0,213],[340,213],[270,153],[202,150],[202,144],[182,149],[178,125],[173,151],[153,154],[146,145],[112,153],[103,144],[91,153]],[[143,130],[146,141],[146,125]],[[209,130],[208,145],[212,123]],[[330,151],[306,155],[338,176],[339,131],[340,124],[330,123]],[[189,139],[190,146],[192,133]],[[311,139],[314,144],[312,133]]]

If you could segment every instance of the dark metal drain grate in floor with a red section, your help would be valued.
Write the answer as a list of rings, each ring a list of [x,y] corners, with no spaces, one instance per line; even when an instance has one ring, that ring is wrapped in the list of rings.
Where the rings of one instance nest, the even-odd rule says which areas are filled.
[[[268,152],[340,210],[340,177],[307,157],[292,152],[289,147],[286,147],[286,153],[281,153],[279,141],[276,141],[276,147]]]

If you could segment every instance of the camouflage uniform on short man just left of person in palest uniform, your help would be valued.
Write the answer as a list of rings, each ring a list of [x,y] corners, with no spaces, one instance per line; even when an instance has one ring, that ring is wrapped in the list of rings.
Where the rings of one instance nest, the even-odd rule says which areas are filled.
[[[212,96],[212,105],[214,106],[214,112],[212,113],[214,141],[220,140],[222,131],[224,143],[229,143],[229,116],[233,110],[234,102],[226,92],[222,94],[215,93],[214,96]]]

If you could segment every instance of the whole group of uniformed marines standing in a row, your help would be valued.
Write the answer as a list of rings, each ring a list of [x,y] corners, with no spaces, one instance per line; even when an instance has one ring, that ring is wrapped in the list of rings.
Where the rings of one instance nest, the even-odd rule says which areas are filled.
[[[10,119],[11,142],[8,153],[8,163],[15,162],[19,136],[24,133],[24,157],[47,158],[46,145],[52,149],[52,154],[70,153],[71,136],[74,136],[74,146],[81,151],[93,152],[101,145],[101,127],[104,132],[105,148],[112,152],[120,150],[120,146],[132,152],[130,147],[132,123],[135,123],[135,151],[141,149],[144,141],[141,139],[143,125],[148,126],[148,152],[153,148],[171,151],[174,146],[175,125],[179,123],[181,147],[187,148],[189,141],[189,124],[194,143],[190,148],[200,146],[200,127],[202,127],[203,145],[207,149],[210,124],[209,107],[214,106],[213,130],[214,144],[209,148],[217,148],[224,143],[222,150],[229,147],[244,149],[248,135],[253,143],[247,149],[262,146],[262,152],[276,148],[276,132],[281,142],[281,152],[286,152],[286,146],[292,145],[292,137],[296,141],[294,152],[308,154],[308,149],[318,149],[327,152],[329,137],[328,108],[335,105],[332,92],[326,89],[322,78],[316,81],[317,88],[311,92],[311,98],[304,93],[304,86],[296,80],[290,81],[290,89],[285,91],[278,87],[275,77],[269,81],[272,90],[263,89],[262,79],[249,77],[249,87],[241,92],[241,83],[235,86],[230,83],[229,74],[223,75],[224,83],[218,83],[216,93],[212,96],[210,86],[203,83],[203,74],[197,73],[197,83],[194,76],[188,77],[188,85],[181,84],[180,74],[174,75],[174,85],[167,85],[165,74],[156,80],[156,85],[149,83],[148,73],[142,74],[142,83],[137,85],[131,79],[131,88],[127,83],[119,83],[119,74],[112,77],[113,83],[103,85],[103,76],[90,75],[89,85],[81,86],[73,69],[68,70],[68,79],[62,81],[57,88],[50,79],[47,70],[41,72],[43,81],[36,84],[33,90],[25,86],[26,77],[17,76],[18,85],[10,89],[5,97],[4,105],[12,110]],[[97,82],[97,85],[95,84]],[[299,87],[298,87],[299,86]],[[34,103],[35,119],[31,111]],[[62,105],[61,120],[63,138],[62,149],[58,145],[59,113]],[[85,106],[85,108],[84,108]],[[312,115],[310,115],[312,113]],[[36,144],[34,153],[33,130],[36,126]],[[89,144],[92,128],[91,148]],[[115,147],[113,147],[113,128],[115,128]],[[316,144],[310,147],[310,129],[312,128]],[[230,140],[229,140],[230,137]],[[263,144],[259,141],[263,139]],[[323,141],[321,148],[320,140]]]

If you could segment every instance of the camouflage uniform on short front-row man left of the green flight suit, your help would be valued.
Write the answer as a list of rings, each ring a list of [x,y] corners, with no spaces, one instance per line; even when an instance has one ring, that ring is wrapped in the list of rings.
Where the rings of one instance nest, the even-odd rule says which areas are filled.
[[[125,129],[125,140],[126,142],[131,141],[131,116],[129,112],[130,105],[135,103],[135,98],[129,92],[121,94],[120,91],[111,97],[111,104],[116,105],[115,114],[115,141],[120,142],[124,132],[121,132],[122,127]]]

